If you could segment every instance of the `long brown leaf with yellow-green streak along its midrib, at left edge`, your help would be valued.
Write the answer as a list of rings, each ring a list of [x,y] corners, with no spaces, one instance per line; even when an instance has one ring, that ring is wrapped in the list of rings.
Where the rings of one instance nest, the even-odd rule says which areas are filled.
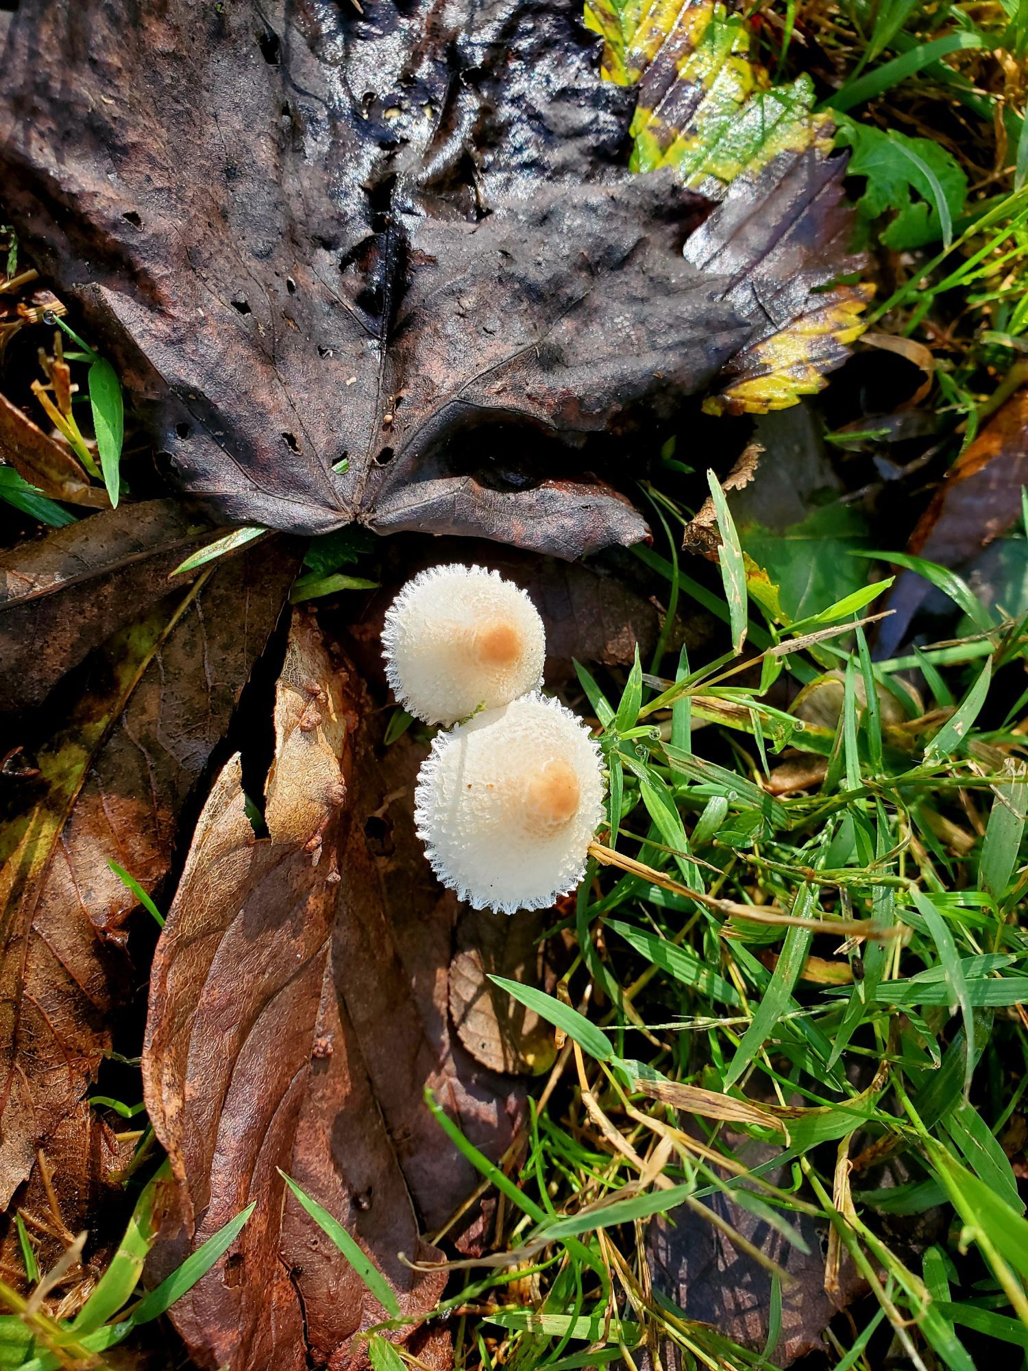
[[[151,891],[182,808],[263,650],[295,562],[254,554],[178,588],[97,654],[36,749],[0,828],[0,1205],[75,1106],[125,991],[118,945]],[[69,613],[73,611],[71,603]]]

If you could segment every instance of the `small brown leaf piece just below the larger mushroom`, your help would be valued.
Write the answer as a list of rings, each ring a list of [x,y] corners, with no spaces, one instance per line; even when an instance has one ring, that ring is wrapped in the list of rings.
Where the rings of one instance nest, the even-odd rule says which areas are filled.
[[[488,976],[544,986],[540,938],[546,912],[514,916],[465,909],[456,923],[456,953],[450,962],[450,1017],[476,1061],[491,1071],[541,1075],[556,1057],[554,1031]],[[552,979],[552,978],[551,978]]]

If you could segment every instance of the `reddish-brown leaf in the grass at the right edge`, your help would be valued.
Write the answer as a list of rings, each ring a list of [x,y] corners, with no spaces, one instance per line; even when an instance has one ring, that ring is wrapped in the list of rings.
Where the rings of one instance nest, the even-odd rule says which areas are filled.
[[[910,535],[907,553],[939,566],[970,562],[1021,518],[1021,489],[1028,485],[1028,389],[1017,391],[947,472]],[[981,576],[979,574],[979,581]],[[901,572],[879,629],[877,651],[890,657],[931,585],[914,572]],[[991,596],[987,595],[987,599]],[[1009,603],[1012,613],[1023,606]]]

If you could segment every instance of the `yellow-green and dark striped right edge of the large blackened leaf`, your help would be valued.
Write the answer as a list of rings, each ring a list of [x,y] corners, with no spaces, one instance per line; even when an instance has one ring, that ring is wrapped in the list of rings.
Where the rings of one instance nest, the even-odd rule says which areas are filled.
[[[587,22],[603,34],[607,80],[639,82],[633,167],[673,167],[718,203],[685,258],[722,277],[718,298],[758,321],[705,407],[759,414],[822,389],[859,337],[872,291],[816,293],[858,262],[839,204],[846,159],[828,158],[835,129],[811,112],[813,82],[772,88],[747,59],[746,18],[715,0],[587,0]]]

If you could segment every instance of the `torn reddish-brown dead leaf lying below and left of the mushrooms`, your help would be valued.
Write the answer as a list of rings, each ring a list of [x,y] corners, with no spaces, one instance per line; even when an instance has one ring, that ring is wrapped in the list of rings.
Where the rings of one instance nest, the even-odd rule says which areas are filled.
[[[430,1260],[419,1224],[444,1223],[477,1179],[424,1089],[493,1154],[517,1121],[518,1093],[450,1041],[454,903],[414,840],[422,754],[402,740],[376,755],[369,713],[356,675],[337,669],[314,621],[296,614],[267,836],[247,817],[236,755],[200,816],[158,945],[144,1080],[178,1183],[159,1267],[258,1202],[232,1256],[174,1311],[201,1366],[280,1371],[308,1356],[362,1366],[354,1334],[382,1318],[306,1212],[284,1201],[277,1167],[345,1224],[417,1319],[445,1278],[411,1271],[397,1253]],[[410,1326],[395,1334],[410,1335]]]

